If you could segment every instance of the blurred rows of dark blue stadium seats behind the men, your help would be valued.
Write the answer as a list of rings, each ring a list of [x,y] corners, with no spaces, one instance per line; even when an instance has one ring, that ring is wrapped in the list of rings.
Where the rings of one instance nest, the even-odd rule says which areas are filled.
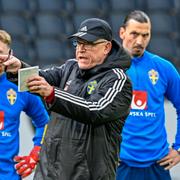
[[[180,0],[0,0],[0,28],[13,37],[14,54],[31,65],[62,64],[74,57],[67,36],[90,17],[107,20],[115,38],[131,10],[152,20],[148,47],[180,69]]]

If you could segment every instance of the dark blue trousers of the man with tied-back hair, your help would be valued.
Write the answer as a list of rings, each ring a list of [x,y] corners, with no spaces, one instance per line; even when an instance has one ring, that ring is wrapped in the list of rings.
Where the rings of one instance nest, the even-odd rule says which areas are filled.
[[[171,177],[170,172],[158,164],[137,168],[121,162],[117,169],[116,180],[171,180]]]

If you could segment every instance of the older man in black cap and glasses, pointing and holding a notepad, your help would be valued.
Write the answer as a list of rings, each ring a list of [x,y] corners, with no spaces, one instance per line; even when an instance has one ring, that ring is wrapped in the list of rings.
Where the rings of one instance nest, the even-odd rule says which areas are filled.
[[[34,179],[113,180],[132,98],[125,74],[130,57],[102,19],[83,21],[70,38],[76,59],[28,81],[30,92],[58,113],[49,123]],[[4,65],[11,72],[26,66],[15,57]]]

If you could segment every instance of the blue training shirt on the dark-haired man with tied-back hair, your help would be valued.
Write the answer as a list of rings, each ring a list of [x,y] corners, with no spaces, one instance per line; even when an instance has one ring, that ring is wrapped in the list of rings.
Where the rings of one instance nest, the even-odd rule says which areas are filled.
[[[133,85],[133,99],[123,128],[120,159],[129,166],[147,167],[169,151],[165,97],[177,111],[174,148],[180,148],[180,76],[170,62],[147,51],[132,59],[127,73]]]

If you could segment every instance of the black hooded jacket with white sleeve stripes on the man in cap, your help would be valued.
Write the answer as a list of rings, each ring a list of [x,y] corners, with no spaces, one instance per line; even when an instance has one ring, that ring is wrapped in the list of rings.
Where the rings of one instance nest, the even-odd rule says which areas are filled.
[[[80,70],[75,59],[40,71],[55,87],[34,180],[115,180],[121,132],[129,113],[130,57],[113,40],[105,62]]]

